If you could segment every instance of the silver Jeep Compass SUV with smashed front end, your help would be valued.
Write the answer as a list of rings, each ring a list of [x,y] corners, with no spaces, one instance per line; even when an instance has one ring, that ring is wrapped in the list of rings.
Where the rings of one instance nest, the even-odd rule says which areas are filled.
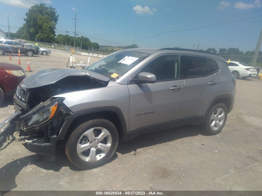
[[[50,160],[63,147],[78,168],[105,164],[118,140],[184,124],[220,133],[232,110],[235,77],[225,60],[196,50],[115,52],[83,69],[45,69],[25,78],[0,146],[19,131]]]

